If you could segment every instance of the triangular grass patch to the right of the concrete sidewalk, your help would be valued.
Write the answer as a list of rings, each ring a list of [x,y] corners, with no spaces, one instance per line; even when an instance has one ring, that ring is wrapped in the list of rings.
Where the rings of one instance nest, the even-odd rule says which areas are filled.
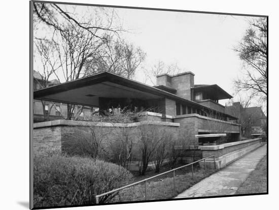
[[[235,194],[252,194],[267,192],[267,160],[264,156],[256,169],[247,180],[238,188]]]

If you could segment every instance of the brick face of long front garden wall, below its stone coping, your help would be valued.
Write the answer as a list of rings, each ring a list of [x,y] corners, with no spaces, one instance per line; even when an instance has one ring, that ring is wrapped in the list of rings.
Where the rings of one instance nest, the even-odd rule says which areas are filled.
[[[141,132],[158,129],[159,135],[171,134],[171,141],[178,139],[178,127],[161,124],[143,124],[135,127],[106,127],[106,126],[71,126],[57,124],[49,127],[34,128],[33,130],[33,150],[34,155],[43,153],[50,148],[61,151],[69,149],[69,142],[79,141],[83,136],[90,138],[91,130],[95,133],[96,139],[102,151],[108,155],[116,153],[121,146],[123,136],[127,136],[132,142],[132,161],[140,160]],[[91,136],[92,137],[92,136]],[[104,154],[104,155],[106,155]]]

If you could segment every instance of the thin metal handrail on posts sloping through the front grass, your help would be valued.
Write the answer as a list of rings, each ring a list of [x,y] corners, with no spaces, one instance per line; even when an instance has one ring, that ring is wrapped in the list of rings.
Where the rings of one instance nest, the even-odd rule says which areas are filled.
[[[147,179],[144,179],[144,180],[141,180],[141,181],[138,181],[138,182],[134,182],[134,183],[132,183],[132,184],[129,184],[129,185],[126,185],[126,186],[124,186],[124,187],[120,187],[120,188],[111,190],[111,191],[109,191],[109,192],[105,192],[105,193],[102,193],[102,194],[99,194],[99,195],[95,195],[95,201],[96,201],[96,203],[99,203],[99,197],[102,197],[102,196],[104,196],[104,195],[108,195],[108,194],[111,194],[111,193],[114,193],[114,192],[123,190],[123,189],[125,189],[125,188],[131,187],[131,186],[134,186],[134,185],[137,185],[137,184],[141,184],[141,183],[143,183],[143,182],[145,183],[145,199],[147,200],[146,182],[147,182],[148,180],[151,180],[151,179],[154,179],[154,178],[156,178],[156,177],[162,176],[162,175],[164,175],[164,174],[173,172],[173,189],[175,189],[175,171],[176,171],[176,170],[179,170],[179,169],[182,169],[183,167],[192,165],[192,179],[194,179],[193,164],[195,164],[195,163],[200,162],[200,161],[203,160],[203,162],[204,162],[204,170],[206,171],[205,159],[208,159],[208,158],[211,158],[211,157],[214,157],[214,167],[215,167],[215,169],[216,169],[215,155],[208,156],[208,157],[202,158],[202,159],[200,159],[200,160],[191,162],[191,163],[189,163],[189,164],[187,164],[187,165],[182,165],[182,166],[180,166],[180,167],[177,167],[177,168],[175,168],[175,169],[169,170],[169,171],[167,171],[167,172],[163,172],[163,173],[161,173],[161,174],[157,174],[157,175],[155,175],[155,176],[153,176],[153,177],[149,177],[149,178],[147,178]]]

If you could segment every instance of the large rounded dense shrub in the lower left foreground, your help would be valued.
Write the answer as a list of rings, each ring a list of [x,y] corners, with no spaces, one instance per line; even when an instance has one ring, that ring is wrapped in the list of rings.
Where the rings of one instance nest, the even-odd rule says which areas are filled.
[[[33,174],[34,207],[91,204],[94,194],[125,185],[132,177],[119,165],[66,155],[34,158]],[[99,202],[115,195],[103,196]]]

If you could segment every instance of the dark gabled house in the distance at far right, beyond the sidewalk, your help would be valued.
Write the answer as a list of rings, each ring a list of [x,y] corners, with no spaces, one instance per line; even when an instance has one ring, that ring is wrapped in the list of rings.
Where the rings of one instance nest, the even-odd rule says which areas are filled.
[[[240,102],[226,107],[226,113],[237,117],[237,123],[241,124],[242,136],[266,132],[266,116],[261,107],[244,108]]]

